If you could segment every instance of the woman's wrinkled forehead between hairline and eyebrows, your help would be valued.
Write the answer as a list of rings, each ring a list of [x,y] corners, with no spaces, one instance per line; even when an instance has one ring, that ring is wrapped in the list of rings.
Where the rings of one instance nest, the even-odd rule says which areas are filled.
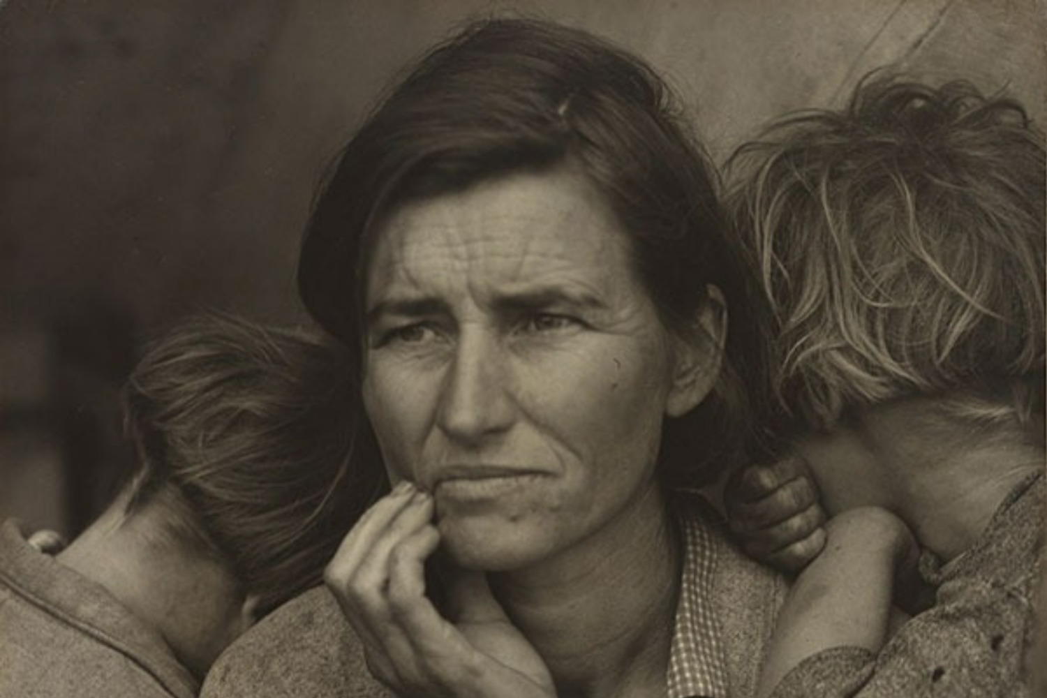
[[[486,283],[631,275],[628,237],[571,171],[518,174],[407,203],[376,230],[367,295],[473,276]]]

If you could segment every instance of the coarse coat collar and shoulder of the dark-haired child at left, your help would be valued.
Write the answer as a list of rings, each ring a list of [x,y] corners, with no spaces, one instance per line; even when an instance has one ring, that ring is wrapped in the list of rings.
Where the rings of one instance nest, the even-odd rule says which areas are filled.
[[[199,682],[104,587],[0,527],[0,698],[192,698]]]

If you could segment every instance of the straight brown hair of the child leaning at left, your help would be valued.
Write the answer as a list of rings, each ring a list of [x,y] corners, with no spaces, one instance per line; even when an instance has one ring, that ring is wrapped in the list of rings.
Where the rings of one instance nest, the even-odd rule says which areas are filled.
[[[125,386],[138,456],[128,513],[162,506],[165,537],[227,562],[261,613],[321,581],[383,487],[355,464],[359,390],[331,344],[195,318],[153,343]]]

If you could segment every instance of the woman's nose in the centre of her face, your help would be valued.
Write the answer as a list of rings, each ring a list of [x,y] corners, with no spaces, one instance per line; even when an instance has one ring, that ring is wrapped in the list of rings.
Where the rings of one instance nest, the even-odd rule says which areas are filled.
[[[494,337],[463,333],[440,396],[437,420],[451,438],[475,442],[513,420],[505,351]]]

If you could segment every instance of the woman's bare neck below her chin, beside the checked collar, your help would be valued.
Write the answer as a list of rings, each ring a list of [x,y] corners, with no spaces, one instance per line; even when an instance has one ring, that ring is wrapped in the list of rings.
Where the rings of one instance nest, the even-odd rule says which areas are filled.
[[[652,485],[598,537],[491,584],[561,697],[664,695],[681,549]]]

